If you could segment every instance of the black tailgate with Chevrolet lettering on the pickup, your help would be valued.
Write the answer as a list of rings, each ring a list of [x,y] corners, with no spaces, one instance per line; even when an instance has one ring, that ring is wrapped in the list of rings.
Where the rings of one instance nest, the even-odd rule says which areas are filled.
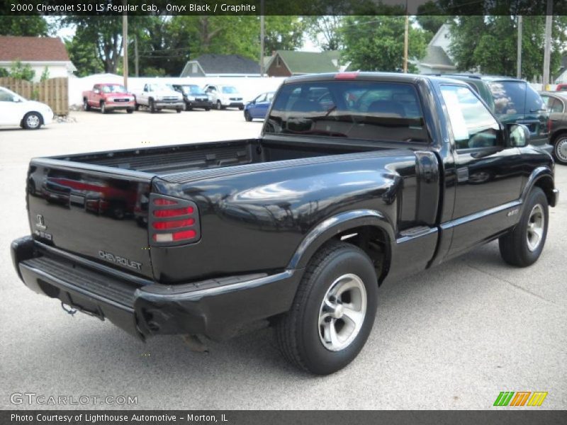
[[[147,239],[151,179],[150,174],[33,159],[27,191],[31,232],[45,244],[152,278]]]

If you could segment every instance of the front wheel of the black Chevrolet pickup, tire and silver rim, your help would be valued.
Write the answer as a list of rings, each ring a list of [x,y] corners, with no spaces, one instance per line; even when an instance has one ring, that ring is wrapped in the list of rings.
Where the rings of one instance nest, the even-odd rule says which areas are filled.
[[[503,260],[517,267],[535,263],[544,249],[548,223],[547,198],[544,191],[536,186],[527,196],[520,222],[498,239]]]

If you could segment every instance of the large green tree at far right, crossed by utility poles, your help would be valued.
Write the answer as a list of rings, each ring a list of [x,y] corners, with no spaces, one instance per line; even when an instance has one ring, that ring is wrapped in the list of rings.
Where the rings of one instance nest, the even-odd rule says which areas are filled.
[[[551,38],[551,75],[561,66],[567,17],[555,16]],[[544,60],[544,16],[524,16],[522,77],[540,76]],[[461,71],[516,75],[517,18],[515,16],[458,16],[451,23],[451,55]]]

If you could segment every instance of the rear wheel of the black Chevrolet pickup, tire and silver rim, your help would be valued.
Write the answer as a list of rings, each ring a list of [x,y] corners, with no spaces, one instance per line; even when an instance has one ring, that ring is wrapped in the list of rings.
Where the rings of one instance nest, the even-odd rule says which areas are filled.
[[[341,292],[345,285],[352,288]],[[338,300],[332,300],[334,290],[342,294]],[[344,242],[322,246],[305,270],[291,310],[276,324],[283,357],[317,375],[344,368],[368,339],[376,316],[377,292],[376,271],[364,251]],[[351,309],[342,315],[347,299]],[[331,312],[330,306],[335,310]],[[363,313],[355,315],[357,311]],[[349,317],[357,317],[357,321]],[[349,329],[347,323],[354,327]]]

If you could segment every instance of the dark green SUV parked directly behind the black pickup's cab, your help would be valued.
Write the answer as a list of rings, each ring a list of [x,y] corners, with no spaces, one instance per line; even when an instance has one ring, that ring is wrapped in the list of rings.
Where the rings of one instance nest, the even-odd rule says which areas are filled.
[[[493,77],[477,74],[443,74],[443,77],[465,81],[478,92],[483,101],[503,124],[524,124],[531,133],[530,144],[549,145],[549,111],[541,96],[527,81],[511,77]]]

